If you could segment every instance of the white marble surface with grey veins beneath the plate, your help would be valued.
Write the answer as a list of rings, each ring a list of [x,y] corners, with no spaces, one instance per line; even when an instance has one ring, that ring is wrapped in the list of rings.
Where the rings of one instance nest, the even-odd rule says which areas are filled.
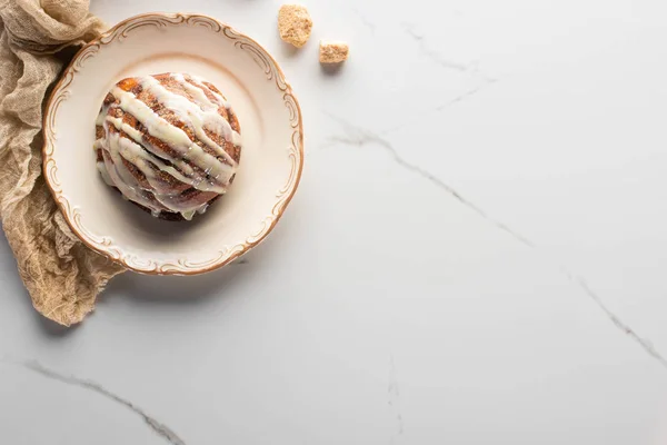
[[[666,443],[667,4],[303,3],[293,51],[275,0],[92,0],[256,37],[306,169],[246,261],[125,275],[70,330],[1,241],[0,443]]]

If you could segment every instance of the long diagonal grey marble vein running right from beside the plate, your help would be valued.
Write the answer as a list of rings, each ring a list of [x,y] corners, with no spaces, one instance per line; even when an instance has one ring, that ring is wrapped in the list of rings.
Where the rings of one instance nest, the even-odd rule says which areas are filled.
[[[396,164],[398,164],[399,166],[401,166],[402,168],[405,168],[406,170],[421,176],[422,178],[427,179],[428,181],[430,181],[438,188],[445,190],[447,194],[449,194],[450,196],[456,198],[459,202],[461,202],[469,209],[474,210],[476,214],[478,214],[480,217],[486,219],[488,222],[496,226],[498,229],[501,229],[501,230],[508,233],[509,235],[511,235],[511,237],[515,240],[521,243],[526,247],[529,247],[529,248],[536,249],[536,250],[538,249],[538,246],[536,246],[530,239],[520,235],[519,233],[517,233],[516,230],[506,226],[505,224],[497,221],[496,219],[489,217],[486,214],[486,211],[484,211],[481,208],[477,207],[476,205],[470,202],[468,199],[462,197],[457,190],[451,188],[449,185],[447,185],[440,178],[436,177],[434,174],[425,170],[424,168],[405,160],[400,156],[398,150],[391,144],[389,144],[389,141],[387,141],[386,139],[381,138],[378,135],[375,135],[374,132],[371,132],[369,130],[366,130],[360,127],[356,127],[356,126],[351,125],[350,122],[347,122],[336,116],[332,116],[329,113],[327,113],[327,115],[331,119],[337,121],[345,129],[344,136],[329,137],[328,138],[329,142],[338,142],[338,144],[344,144],[344,145],[355,146],[355,147],[361,147],[365,145],[375,144],[379,147],[382,147],[385,149],[385,151],[387,151],[389,155],[391,155],[394,161]],[[661,366],[667,368],[667,359],[665,359],[658,353],[658,350],[653,346],[650,340],[640,337],[633,328],[630,328],[617,315],[615,315],[611,310],[609,310],[609,308],[603,303],[601,298],[595,291],[593,291],[593,289],[588,286],[588,284],[586,283],[584,277],[570,273],[565,266],[560,266],[560,270],[571,283],[576,284],[588,297],[590,297],[595,301],[595,304],[603,310],[603,313],[607,316],[607,318],[609,318],[611,320],[611,323],[614,323],[614,325],[616,327],[618,327],[628,337],[630,337],[639,346],[641,346],[641,348],[644,348],[644,350],[649,356],[657,359]]]

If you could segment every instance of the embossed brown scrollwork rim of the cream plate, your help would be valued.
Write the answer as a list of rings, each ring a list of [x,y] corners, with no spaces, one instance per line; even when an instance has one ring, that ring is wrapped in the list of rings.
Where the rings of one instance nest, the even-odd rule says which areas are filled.
[[[285,106],[289,112],[289,122],[293,129],[291,145],[287,148],[291,161],[291,170],[289,178],[283,187],[276,190],[276,201],[269,215],[261,221],[258,221],[257,227],[252,230],[252,235],[247,239],[233,246],[225,246],[218,251],[218,255],[210,259],[196,261],[187,257],[179,258],[175,263],[147,260],[135,255],[123,253],[123,250],[113,244],[113,240],[104,236],[96,236],[86,229],[81,222],[80,210],[72,206],[67,196],[62,191],[61,184],[58,179],[58,165],[53,159],[53,150],[56,148],[56,116],[58,108],[66,101],[71,91],[69,89],[77,72],[92,59],[100,48],[113,41],[122,41],[132,31],[142,27],[206,27],[211,32],[220,33],[223,38],[233,41],[233,46],[249,53],[255,62],[263,70],[267,80],[273,81],[276,88],[282,93]],[[282,216],[285,208],[296,192],[297,186],[301,177],[303,168],[303,131],[302,119],[299,102],[295,97],[290,85],[285,79],[285,75],[278,67],[276,60],[255,40],[233,30],[231,27],[220,23],[216,19],[201,14],[183,14],[183,13],[148,13],[127,19],[98,39],[84,46],[74,56],[70,66],[66,69],[60,81],[56,85],[43,120],[43,170],[47,184],[62,211],[64,219],[77,236],[93,250],[107,256],[108,258],[121,264],[128,269],[150,275],[196,275],[217,269],[229,264],[245,251],[258,245],[276,226],[276,222]]]

